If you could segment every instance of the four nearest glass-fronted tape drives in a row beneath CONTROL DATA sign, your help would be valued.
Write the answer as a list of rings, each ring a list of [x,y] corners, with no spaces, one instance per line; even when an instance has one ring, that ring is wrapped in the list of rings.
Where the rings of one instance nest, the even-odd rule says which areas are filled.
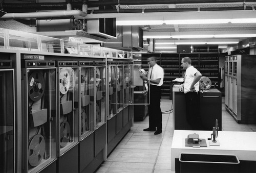
[[[24,60],[25,170],[39,171],[104,123],[105,70],[104,62]]]

